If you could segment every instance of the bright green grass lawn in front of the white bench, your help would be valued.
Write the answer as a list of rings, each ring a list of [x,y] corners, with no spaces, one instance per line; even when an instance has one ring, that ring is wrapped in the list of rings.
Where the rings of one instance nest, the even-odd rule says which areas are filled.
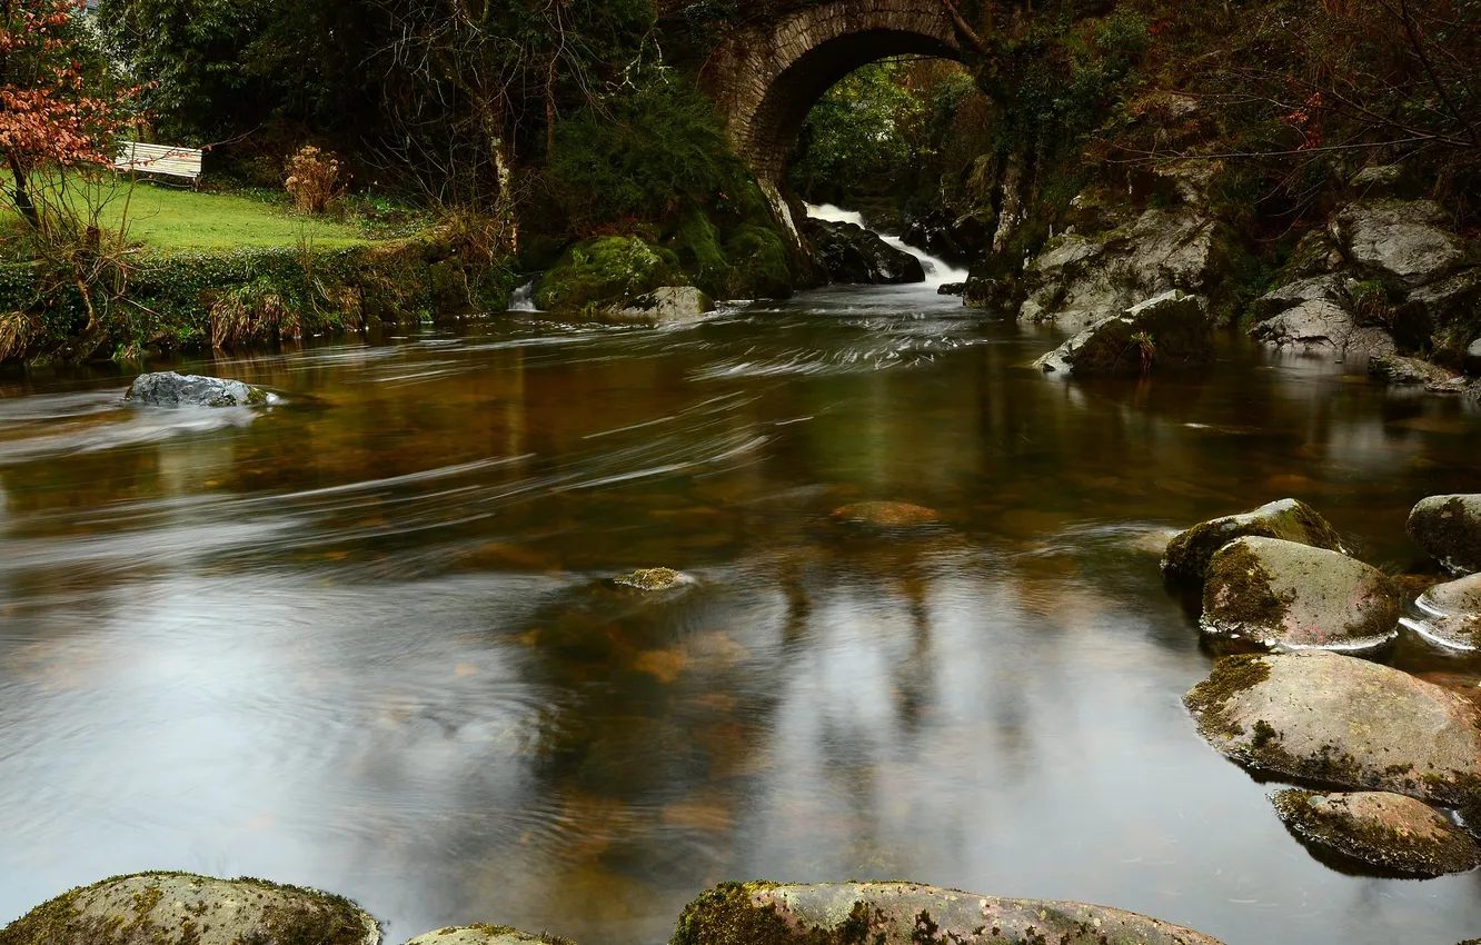
[[[139,182],[129,194],[117,185],[73,184],[74,198],[89,188],[102,204],[101,222],[117,228],[127,209],[129,241],[158,252],[298,246],[307,238],[315,249],[342,249],[370,243],[354,225],[302,216],[283,206],[234,194],[201,194],[185,188]],[[78,206],[81,201],[78,200]],[[12,225],[21,221],[10,216]]]

